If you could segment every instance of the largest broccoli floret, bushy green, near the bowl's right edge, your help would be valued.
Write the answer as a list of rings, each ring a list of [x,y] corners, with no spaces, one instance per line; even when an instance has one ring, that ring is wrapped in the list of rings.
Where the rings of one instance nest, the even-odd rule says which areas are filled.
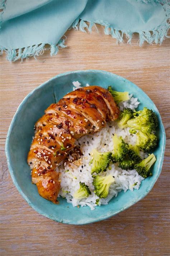
[[[128,127],[131,127],[132,131],[141,130],[143,133],[156,131],[158,121],[151,109],[144,107],[143,110],[137,111],[133,115],[134,118],[127,121]]]

